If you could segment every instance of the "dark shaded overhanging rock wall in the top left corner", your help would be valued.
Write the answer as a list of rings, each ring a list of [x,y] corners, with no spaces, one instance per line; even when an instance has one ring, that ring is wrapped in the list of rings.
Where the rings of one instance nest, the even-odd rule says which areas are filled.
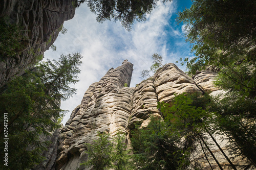
[[[22,28],[25,39],[15,57],[0,56],[0,87],[42,58],[65,20],[74,17],[72,0],[0,0],[0,17]]]

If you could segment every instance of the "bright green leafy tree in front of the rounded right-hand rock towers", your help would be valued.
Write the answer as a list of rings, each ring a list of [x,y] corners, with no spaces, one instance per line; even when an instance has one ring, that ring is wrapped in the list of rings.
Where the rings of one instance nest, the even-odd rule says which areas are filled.
[[[214,114],[208,110],[210,96],[199,93],[187,93],[176,95],[174,100],[169,104],[159,103],[161,113],[164,116],[165,123],[168,125],[168,130],[174,136],[180,139],[179,146],[186,159],[182,159],[186,167],[181,169],[200,169],[200,165],[196,160],[190,160],[190,155],[197,151],[197,143],[205,142],[205,133],[209,132],[208,125],[212,124],[212,116]],[[208,146],[207,146],[208,147]],[[204,150],[204,148],[201,148]],[[209,150],[210,152],[210,150]],[[184,157],[183,156],[183,157]]]

